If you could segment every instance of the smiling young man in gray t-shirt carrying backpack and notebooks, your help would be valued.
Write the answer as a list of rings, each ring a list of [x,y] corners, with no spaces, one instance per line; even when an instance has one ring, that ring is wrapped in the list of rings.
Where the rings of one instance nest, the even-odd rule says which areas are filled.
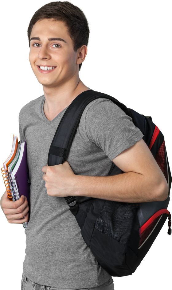
[[[87,42],[82,40],[76,49],[81,37],[76,27],[79,29],[83,22],[85,30],[81,31]],[[168,195],[166,179],[143,134],[130,117],[105,98],[85,108],[67,160],[46,166],[49,147],[65,110],[80,93],[89,90],[78,74],[87,55],[88,30],[82,10],[68,1],[45,4],[29,23],[29,64],[44,94],[23,106],[18,114],[19,140],[27,143],[31,181],[23,290],[35,285],[38,290],[44,289],[43,285],[58,290],[114,289],[111,275],[85,244],[64,197],[135,203],[160,201]],[[106,176],[112,162],[125,173]],[[29,207],[22,197],[11,203],[5,192],[2,208],[9,223],[28,220]]]

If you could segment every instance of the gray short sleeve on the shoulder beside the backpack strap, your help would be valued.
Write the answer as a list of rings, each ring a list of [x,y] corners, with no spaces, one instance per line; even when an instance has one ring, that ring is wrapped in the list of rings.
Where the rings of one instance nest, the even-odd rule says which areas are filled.
[[[131,117],[111,100],[103,98],[89,107],[85,130],[90,142],[100,147],[111,160],[144,136]]]

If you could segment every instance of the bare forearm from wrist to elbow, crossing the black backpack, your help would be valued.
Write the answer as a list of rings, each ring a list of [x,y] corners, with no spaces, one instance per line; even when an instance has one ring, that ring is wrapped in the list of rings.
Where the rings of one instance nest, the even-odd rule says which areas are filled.
[[[126,172],[113,176],[77,175],[76,195],[105,200],[140,203],[165,200],[168,195],[162,182],[154,185],[146,177],[136,172]],[[159,190],[158,190],[159,188]],[[158,191],[158,192],[157,192]],[[167,198],[167,196],[166,196]]]

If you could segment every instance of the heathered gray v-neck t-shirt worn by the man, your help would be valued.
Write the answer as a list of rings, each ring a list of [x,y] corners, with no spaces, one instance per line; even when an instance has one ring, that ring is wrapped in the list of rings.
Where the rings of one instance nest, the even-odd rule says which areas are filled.
[[[49,196],[42,167],[65,108],[52,121],[44,114],[44,95],[18,114],[19,140],[27,143],[30,220],[25,229],[23,273],[41,285],[64,289],[93,288],[111,279],[85,244],[80,227],[62,197]],[[106,176],[112,159],[143,137],[112,101],[101,98],[85,108],[67,161],[74,174]]]

